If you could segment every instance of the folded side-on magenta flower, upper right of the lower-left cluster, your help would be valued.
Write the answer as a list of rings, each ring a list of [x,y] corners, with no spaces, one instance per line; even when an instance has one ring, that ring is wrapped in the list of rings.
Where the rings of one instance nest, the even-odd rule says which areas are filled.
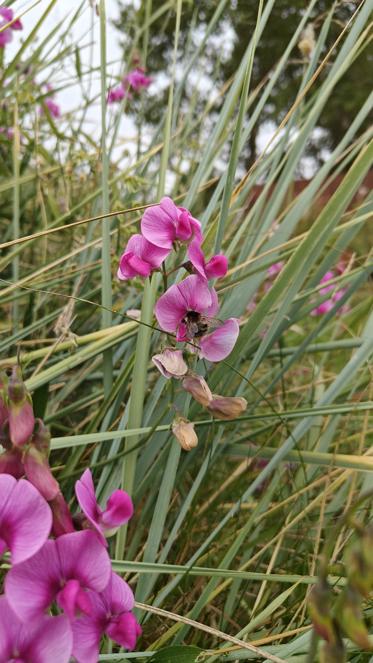
[[[110,495],[103,511],[97,503],[92,474],[86,470],[75,484],[75,494],[80,508],[106,544],[105,535],[112,536],[118,527],[133,515],[133,504],[124,490],[115,490]]]

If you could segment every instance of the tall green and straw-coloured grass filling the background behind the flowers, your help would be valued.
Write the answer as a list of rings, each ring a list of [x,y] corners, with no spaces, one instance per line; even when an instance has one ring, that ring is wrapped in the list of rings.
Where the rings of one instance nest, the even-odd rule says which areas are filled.
[[[198,104],[185,108],[183,91],[199,72],[226,2],[216,3],[188,60],[179,41],[182,0],[156,13],[144,3],[130,26],[134,47],[142,43],[144,64],[156,75],[149,35],[163,16],[175,25],[174,62],[163,120],[158,127],[139,123],[136,149],[120,124],[131,100],[106,104],[114,70],[105,44],[109,3],[101,0],[100,16],[90,15],[88,3],[73,11],[62,3],[63,18],[37,41],[55,4],[45,4],[12,58],[4,54],[1,123],[16,126],[13,143],[0,135],[0,366],[18,355],[37,416],[52,430],[54,472],[71,500],[87,466],[100,499],[119,486],[133,496],[135,516],[110,553],[137,588],[141,651],[106,651],[100,660],[318,660],[317,652],[309,654],[306,601],[323,542],[336,519],[373,487],[373,200],[362,186],[373,141],[372,130],[361,129],[372,95],[312,180],[298,195],[291,192],[323,108],[369,47],[372,3],[359,4],[327,50],[335,20],[330,5],[289,112],[249,168],[250,132],[299,57],[297,43],[316,0],[305,6],[273,71],[253,89],[257,44],[274,5],[259,2],[235,76],[202,112]],[[17,13],[26,5],[12,7]],[[93,42],[100,67],[81,65],[84,49],[71,37],[81,15],[88,35],[100,23],[101,43]],[[130,57],[124,53],[126,71]],[[119,76],[123,63],[115,66]],[[76,108],[60,119],[39,115],[43,80],[57,95],[74,85]],[[91,96],[92,81],[101,81],[101,96]],[[101,108],[93,131],[84,121],[92,108],[98,117]],[[334,193],[325,197],[333,182]],[[215,247],[229,258],[218,284],[219,315],[240,318],[240,336],[227,360],[199,368],[214,392],[248,400],[247,414],[234,421],[206,418],[151,363],[162,342],[152,328],[160,276],[145,285],[115,276],[142,210],[164,193],[201,219],[206,251]],[[332,283],[345,289],[343,297],[314,317],[326,299],[320,280],[342,257],[346,269]],[[267,289],[268,267],[280,260],[284,268]],[[176,270],[169,284],[178,278]],[[141,309],[140,323],[128,319],[130,309]],[[196,425],[199,445],[190,453],[170,430],[175,407]],[[370,520],[370,502],[359,515]],[[346,525],[334,541],[330,573],[337,588],[345,583],[341,562],[351,538]],[[369,621],[368,603],[365,616]],[[347,646],[349,660],[373,660],[351,641]]]

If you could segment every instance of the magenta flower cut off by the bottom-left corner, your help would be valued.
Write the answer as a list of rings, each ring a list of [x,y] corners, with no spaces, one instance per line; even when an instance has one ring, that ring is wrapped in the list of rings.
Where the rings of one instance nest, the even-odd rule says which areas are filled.
[[[33,624],[23,624],[0,596],[1,663],[68,663],[72,644],[66,617],[43,615]]]

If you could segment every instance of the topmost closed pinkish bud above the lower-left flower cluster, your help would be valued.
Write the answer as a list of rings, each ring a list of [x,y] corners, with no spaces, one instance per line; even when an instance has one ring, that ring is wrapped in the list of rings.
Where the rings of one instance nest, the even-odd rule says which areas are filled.
[[[35,418],[19,366],[14,366],[8,382],[9,434],[16,447],[24,446],[34,430]]]

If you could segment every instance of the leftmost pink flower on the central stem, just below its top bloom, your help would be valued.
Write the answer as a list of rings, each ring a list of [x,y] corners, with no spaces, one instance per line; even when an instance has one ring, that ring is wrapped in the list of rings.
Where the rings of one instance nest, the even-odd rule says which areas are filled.
[[[169,249],[151,244],[142,235],[132,235],[119,261],[118,279],[125,281],[135,276],[149,276],[161,266],[169,252]]]

